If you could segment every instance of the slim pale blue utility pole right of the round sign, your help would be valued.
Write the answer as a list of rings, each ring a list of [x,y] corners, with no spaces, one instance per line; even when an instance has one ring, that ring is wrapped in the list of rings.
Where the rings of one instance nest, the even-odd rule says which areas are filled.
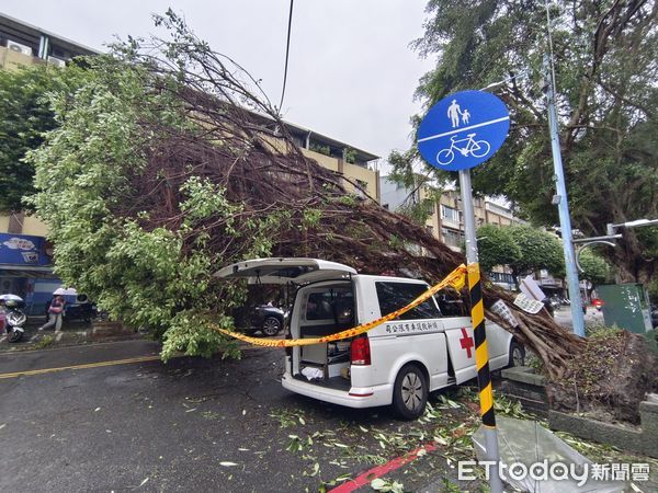
[[[559,227],[563,232],[563,248],[565,252],[565,267],[567,271],[567,285],[569,287],[569,301],[571,302],[571,320],[574,333],[585,337],[585,317],[582,316],[582,299],[580,298],[580,283],[576,268],[576,254],[571,237],[571,218],[567,200],[567,186],[559,148],[559,133],[557,129],[557,111],[555,108],[555,79],[548,55],[544,55],[544,89],[548,103],[548,127],[551,129],[551,148],[553,150],[553,167],[555,169],[555,186],[557,194],[553,204],[557,205],[559,213]]]

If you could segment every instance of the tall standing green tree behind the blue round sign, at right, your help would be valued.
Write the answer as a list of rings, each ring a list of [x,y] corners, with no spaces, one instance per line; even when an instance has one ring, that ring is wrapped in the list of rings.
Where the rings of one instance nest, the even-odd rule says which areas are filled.
[[[503,194],[534,223],[557,210],[543,58],[551,51],[545,2],[430,0],[424,36],[415,42],[436,68],[420,81],[427,107],[451,92],[507,80],[496,89],[511,114],[503,148],[473,170],[474,187]],[[658,217],[658,4],[576,0],[549,4],[563,161],[574,227],[587,236],[605,223]],[[411,170],[416,152],[396,153]],[[434,173],[434,170],[431,170]],[[445,173],[438,173],[444,179]],[[656,270],[658,228],[627,230],[605,255],[626,280]]]

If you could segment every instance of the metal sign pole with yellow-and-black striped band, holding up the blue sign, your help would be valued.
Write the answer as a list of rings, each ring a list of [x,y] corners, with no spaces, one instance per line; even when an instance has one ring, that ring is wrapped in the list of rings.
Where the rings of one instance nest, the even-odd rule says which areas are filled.
[[[470,295],[470,320],[473,336],[475,339],[475,365],[477,368],[477,383],[480,394],[480,415],[485,431],[485,445],[487,458],[496,462],[489,475],[491,493],[502,492],[498,465],[498,433],[496,431],[496,416],[494,414],[494,393],[491,391],[491,376],[489,374],[489,354],[487,351],[487,334],[485,332],[485,309],[483,303],[483,288],[480,282],[479,263],[477,255],[477,238],[475,234],[475,211],[473,209],[473,191],[470,186],[470,170],[460,170],[460,190],[464,208],[464,230],[466,233],[466,260],[468,262],[468,293]]]

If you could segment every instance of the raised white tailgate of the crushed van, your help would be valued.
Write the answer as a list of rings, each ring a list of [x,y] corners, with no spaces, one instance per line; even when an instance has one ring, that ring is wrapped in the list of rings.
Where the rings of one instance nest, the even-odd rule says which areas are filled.
[[[217,271],[222,278],[246,278],[249,284],[297,285],[318,280],[349,278],[356,271],[348,265],[319,259],[253,259]]]

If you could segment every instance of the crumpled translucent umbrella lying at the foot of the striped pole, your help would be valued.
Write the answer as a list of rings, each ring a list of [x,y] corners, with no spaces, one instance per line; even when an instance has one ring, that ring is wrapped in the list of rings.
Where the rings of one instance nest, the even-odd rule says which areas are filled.
[[[500,451],[500,462],[506,466],[504,480],[521,491],[533,493],[613,493],[626,491],[626,484],[622,481],[597,481],[592,478],[592,462],[578,454],[552,432],[532,420],[514,420],[507,416],[496,416],[498,429],[498,444]],[[485,431],[480,426],[473,435],[475,454],[479,461],[489,460],[486,452]],[[548,468],[555,463],[563,463],[567,468],[575,468],[578,475],[588,471],[589,478],[583,484],[578,485],[579,481],[571,478],[556,480],[551,474],[538,479],[533,479],[530,474],[523,478],[511,478],[510,467],[514,466],[517,471],[525,467],[531,470],[533,465],[546,462]],[[523,466],[520,466],[523,465]],[[540,470],[534,469],[535,478]],[[563,469],[559,469],[558,475],[561,475]],[[517,474],[518,475],[518,474]]]

